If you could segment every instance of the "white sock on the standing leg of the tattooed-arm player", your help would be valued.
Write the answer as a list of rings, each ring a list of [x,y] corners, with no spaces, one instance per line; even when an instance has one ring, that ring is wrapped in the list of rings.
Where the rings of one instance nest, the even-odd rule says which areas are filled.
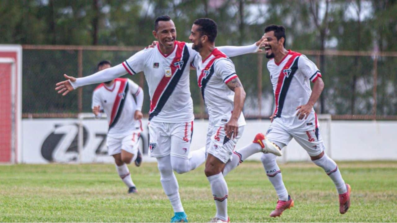
[[[214,196],[216,215],[224,221],[227,221],[227,184],[222,173],[207,177],[211,185],[212,195]]]

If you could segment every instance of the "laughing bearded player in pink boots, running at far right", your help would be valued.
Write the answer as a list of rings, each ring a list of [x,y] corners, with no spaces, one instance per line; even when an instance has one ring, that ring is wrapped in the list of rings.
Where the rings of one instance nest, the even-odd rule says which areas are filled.
[[[264,37],[266,58],[270,59],[267,67],[276,101],[266,137],[280,148],[295,138],[310,159],[332,179],[339,194],[339,211],[344,214],[350,206],[351,188],[343,181],[336,163],[324,153],[324,142],[313,109],[324,88],[321,73],[306,56],[285,49],[283,26],[269,25],[264,30]],[[309,81],[314,83],[313,90]],[[294,202],[284,186],[276,156],[263,154],[261,160],[279,199],[270,216],[280,216],[285,209],[293,207]]]

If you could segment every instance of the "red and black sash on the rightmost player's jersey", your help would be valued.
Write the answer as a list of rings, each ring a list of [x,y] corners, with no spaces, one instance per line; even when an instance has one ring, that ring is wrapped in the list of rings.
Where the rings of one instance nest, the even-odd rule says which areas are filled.
[[[280,75],[278,77],[276,92],[274,94],[276,101],[276,110],[274,111],[275,118],[281,117],[281,112],[283,111],[284,101],[285,101],[285,97],[287,96],[289,85],[291,85],[293,76],[298,70],[298,61],[299,61],[299,56],[301,56],[301,54],[292,51],[291,53],[292,53],[291,58],[289,58],[283,69],[281,69]],[[289,74],[288,71],[287,74],[285,74],[286,72],[284,72],[284,70],[289,70],[289,69],[291,69]]]

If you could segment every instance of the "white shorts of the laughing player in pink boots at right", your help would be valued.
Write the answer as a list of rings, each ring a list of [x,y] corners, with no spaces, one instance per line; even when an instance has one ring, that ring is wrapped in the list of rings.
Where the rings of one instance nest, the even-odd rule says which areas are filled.
[[[318,128],[308,131],[291,131],[283,128],[283,125],[280,123],[273,121],[266,132],[266,138],[278,145],[279,143],[287,145],[294,138],[306,150],[309,156],[317,156],[325,148]]]

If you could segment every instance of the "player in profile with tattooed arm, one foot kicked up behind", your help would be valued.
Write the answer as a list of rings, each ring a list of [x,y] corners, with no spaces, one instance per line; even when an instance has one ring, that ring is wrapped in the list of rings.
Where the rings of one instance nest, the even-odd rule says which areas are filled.
[[[199,52],[192,66],[197,69],[198,86],[209,115],[204,172],[216,205],[216,215],[210,222],[229,222],[228,188],[224,175],[238,165],[241,154],[250,156],[256,152],[272,152],[281,156],[281,153],[264,138],[254,140],[254,143],[233,153],[245,126],[242,113],[245,91],[233,62],[215,47],[217,33],[217,25],[212,19],[196,19],[189,40],[193,42],[193,49]]]

